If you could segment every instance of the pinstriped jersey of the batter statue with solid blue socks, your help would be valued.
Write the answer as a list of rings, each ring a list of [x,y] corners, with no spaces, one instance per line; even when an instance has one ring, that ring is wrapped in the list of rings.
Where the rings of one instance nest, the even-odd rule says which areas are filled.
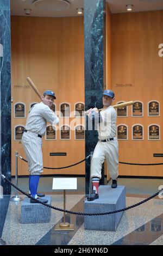
[[[47,122],[58,124],[57,115],[43,102],[35,104],[29,111],[26,130],[45,135]]]

